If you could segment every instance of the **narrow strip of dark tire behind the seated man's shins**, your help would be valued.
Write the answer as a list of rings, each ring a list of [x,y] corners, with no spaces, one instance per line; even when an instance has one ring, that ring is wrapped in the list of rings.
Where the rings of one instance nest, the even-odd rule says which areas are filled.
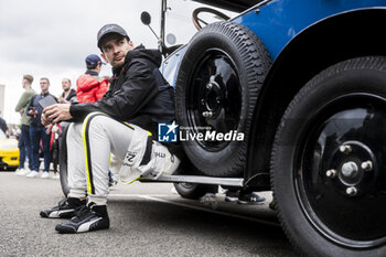
[[[61,174],[62,191],[65,196],[69,193],[68,175],[67,175],[67,130],[68,126],[62,127],[63,132],[58,138],[58,163]]]

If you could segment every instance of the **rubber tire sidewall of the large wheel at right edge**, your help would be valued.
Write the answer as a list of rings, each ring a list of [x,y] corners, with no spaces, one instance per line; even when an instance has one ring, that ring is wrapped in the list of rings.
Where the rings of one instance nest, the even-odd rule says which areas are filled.
[[[355,62],[355,61],[349,61]],[[341,65],[344,66],[344,65]],[[323,237],[305,217],[298,201],[293,173],[296,146],[305,131],[304,120],[314,117],[325,103],[350,93],[371,93],[386,98],[385,72],[355,68],[336,71],[331,67],[311,79],[297,95],[280,122],[272,152],[272,188],[277,200],[279,218],[290,240],[301,251],[311,256],[385,256],[386,246],[375,249],[355,250],[334,244]],[[329,75],[330,74],[330,75]]]

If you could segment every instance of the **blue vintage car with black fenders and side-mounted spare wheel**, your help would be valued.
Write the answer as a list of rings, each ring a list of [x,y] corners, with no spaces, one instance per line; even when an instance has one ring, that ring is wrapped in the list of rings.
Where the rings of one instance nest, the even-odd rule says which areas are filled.
[[[194,165],[163,180],[272,190],[302,254],[386,256],[386,1],[199,2],[239,14],[199,8],[187,44],[161,40]]]

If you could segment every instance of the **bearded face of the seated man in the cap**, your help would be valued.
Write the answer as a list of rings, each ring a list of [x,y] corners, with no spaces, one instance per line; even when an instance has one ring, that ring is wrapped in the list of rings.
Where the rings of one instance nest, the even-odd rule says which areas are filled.
[[[100,56],[112,67],[121,67],[125,64],[126,54],[133,49],[131,41],[118,34],[106,35],[101,44]]]

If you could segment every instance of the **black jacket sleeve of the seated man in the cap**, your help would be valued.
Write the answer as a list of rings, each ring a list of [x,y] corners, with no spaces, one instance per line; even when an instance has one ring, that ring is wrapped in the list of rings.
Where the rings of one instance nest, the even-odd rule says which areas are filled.
[[[89,113],[101,111],[119,120],[128,120],[158,94],[156,78],[148,63],[136,61],[126,72],[120,88],[111,88],[96,103],[69,107],[71,121],[81,121]]]

